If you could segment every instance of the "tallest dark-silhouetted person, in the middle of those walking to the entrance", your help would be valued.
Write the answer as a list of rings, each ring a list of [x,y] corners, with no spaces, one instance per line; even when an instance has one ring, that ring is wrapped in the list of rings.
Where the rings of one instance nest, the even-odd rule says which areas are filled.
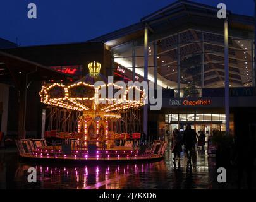
[[[192,148],[196,139],[195,131],[191,129],[190,125],[187,125],[183,135],[183,144],[185,145],[186,157],[188,158],[189,165],[191,165]]]

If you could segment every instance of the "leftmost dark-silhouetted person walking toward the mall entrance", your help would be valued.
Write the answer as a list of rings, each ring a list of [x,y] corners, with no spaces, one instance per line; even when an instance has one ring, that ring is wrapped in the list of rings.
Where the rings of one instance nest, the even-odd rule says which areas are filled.
[[[180,131],[178,131],[178,129],[174,129],[173,130],[173,134],[171,136],[171,151],[173,152],[173,155],[174,155],[174,163],[175,163],[175,160],[176,160],[176,157],[178,156],[178,160],[180,161],[180,153],[181,153],[181,134],[180,134]]]

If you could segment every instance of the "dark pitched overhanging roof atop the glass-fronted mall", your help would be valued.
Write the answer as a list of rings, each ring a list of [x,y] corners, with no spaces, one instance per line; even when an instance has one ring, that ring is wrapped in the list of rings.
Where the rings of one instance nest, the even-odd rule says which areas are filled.
[[[214,27],[215,31],[218,27],[219,31],[222,32],[223,23],[222,20],[217,20],[217,11],[218,9],[213,6],[180,0],[143,17],[138,23],[88,41],[108,42],[107,44],[112,47],[128,41],[128,39],[136,39],[136,37],[142,36],[145,25],[149,27],[151,32],[161,32],[163,25],[168,25],[174,32],[178,32],[179,27],[196,23],[197,26],[209,27],[210,25],[210,27]],[[253,16],[233,14],[231,11],[228,11],[227,15],[231,27],[253,32],[255,23]],[[112,40],[120,43],[111,43]]]

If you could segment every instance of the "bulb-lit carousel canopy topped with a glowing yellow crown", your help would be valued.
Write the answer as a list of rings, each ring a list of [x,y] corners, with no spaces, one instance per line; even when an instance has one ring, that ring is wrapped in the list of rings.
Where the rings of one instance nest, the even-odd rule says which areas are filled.
[[[102,85],[95,86],[92,81],[99,81],[99,78],[102,78],[99,73],[101,64],[92,62],[88,64],[88,68],[90,73],[84,77],[83,81],[68,86],[61,83],[42,86],[39,93],[41,102],[65,109],[98,112],[114,112],[144,105],[145,91],[140,90],[137,86],[126,86],[124,89],[123,86],[114,83],[106,84],[104,80]],[[113,88],[113,94],[118,93],[118,96],[108,96],[109,88]],[[106,94],[102,92],[106,92]],[[139,95],[139,98],[135,95]]]

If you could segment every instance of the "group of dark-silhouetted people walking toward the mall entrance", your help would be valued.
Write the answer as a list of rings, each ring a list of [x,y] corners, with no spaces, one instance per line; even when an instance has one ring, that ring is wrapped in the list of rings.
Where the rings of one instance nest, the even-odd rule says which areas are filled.
[[[195,132],[195,129],[192,129],[190,125],[187,125],[183,136],[181,136],[180,131],[178,131],[178,129],[173,130],[173,134],[171,136],[171,150],[174,155],[174,163],[176,161],[176,157],[178,157],[178,160],[180,161],[182,145],[185,145],[185,152],[186,157],[188,158],[188,165],[191,165],[192,152],[195,151],[195,144],[197,143],[197,138],[198,140],[203,141],[202,149],[204,149],[205,134],[203,131],[202,133],[200,133],[200,136],[198,136],[197,133]]]

